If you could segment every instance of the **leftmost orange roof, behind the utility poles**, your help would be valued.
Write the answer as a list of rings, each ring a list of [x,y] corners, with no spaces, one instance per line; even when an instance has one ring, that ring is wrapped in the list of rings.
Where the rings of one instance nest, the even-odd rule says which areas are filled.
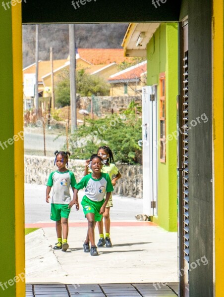
[[[54,60],[53,61],[53,69],[57,69],[63,66],[68,60]],[[32,64],[24,68],[23,74],[35,73],[36,64]],[[39,61],[38,63],[38,81],[42,82],[42,76],[45,76],[51,72],[51,61]]]

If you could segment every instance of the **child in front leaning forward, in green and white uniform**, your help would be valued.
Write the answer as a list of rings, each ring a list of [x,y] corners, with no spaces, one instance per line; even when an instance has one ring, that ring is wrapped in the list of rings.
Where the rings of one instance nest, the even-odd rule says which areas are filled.
[[[82,180],[75,185],[74,195],[69,206],[76,204],[76,209],[79,209],[78,204],[78,191],[85,189],[85,196],[82,198],[82,206],[85,217],[88,220],[88,232],[86,240],[83,244],[84,252],[90,252],[92,256],[98,256],[97,247],[95,246],[94,228],[96,222],[101,221],[105,207],[113,191],[110,176],[106,173],[102,173],[103,160],[97,154],[93,154],[89,161],[89,166],[92,170],[91,174],[88,174],[82,178]],[[105,193],[106,198],[104,199]],[[91,248],[89,247],[91,243]]]

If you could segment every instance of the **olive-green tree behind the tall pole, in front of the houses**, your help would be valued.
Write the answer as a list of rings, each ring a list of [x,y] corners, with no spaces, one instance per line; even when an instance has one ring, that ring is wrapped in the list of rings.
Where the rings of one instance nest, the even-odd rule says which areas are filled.
[[[69,69],[64,69],[58,75],[59,81],[56,84],[55,97],[56,105],[64,107],[70,105],[70,79]],[[97,75],[89,75],[84,69],[76,71],[76,93],[81,96],[107,96],[110,92],[110,85],[105,79]]]

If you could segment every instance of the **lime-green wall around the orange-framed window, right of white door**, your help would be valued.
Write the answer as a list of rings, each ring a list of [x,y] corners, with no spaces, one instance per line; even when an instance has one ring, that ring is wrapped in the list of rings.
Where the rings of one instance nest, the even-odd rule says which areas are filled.
[[[159,77],[166,72],[166,137],[176,131],[176,96],[178,95],[177,24],[161,24],[147,46],[147,84],[158,84],[158,141],[160,138]],[[160,162],[158,146],[158,217],[154,221],[168,231],[177,230],[177,174],[174,137],[166,143],[166,163]]]

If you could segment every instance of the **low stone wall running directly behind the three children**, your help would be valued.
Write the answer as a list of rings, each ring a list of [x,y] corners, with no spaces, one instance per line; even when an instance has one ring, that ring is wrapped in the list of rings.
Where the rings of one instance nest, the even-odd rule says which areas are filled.
[[[54,157],[24,156],[25,183],[46,185],[50,173],[56,170]],[[70,159],[68,168],[75,174],[77,181],[83,177],[85,160]],[[114,194],[142,198],[142,166],[116,164],[121,178],[114,187]]]

